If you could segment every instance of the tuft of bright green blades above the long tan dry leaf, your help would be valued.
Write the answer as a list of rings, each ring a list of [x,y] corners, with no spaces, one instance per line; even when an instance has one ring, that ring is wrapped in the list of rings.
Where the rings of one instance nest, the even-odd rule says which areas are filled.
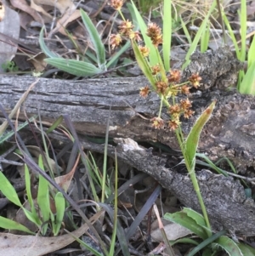
[[[39,156],[38,166],[39,168],[42,168],[42,170],[44,169],[42,164],[42,156]],[[6,196],[10,202],[13,202],[15,205],[23,210],[23,212],[26,214],[26,218],[35,225],[37,225],[38,229],[41,230],[42,236],[45,236],[45,234],[47,233],[48,224],[52,226],[52,232],[54,236],[57,236],[59,234],[59,229],[61,227],[61,223],[65,213],[65,198],[59,192],[57,192],[54,197],[50,196],[49,184],[46,179],[39,175],[39,185],[36,202],[31,195],[31,176],[25,164],[26,196],[27,202],[29,202],[31,210],[28,210],[23,206],[23,204],[20,202],[17,192],[14,190],[13,185],[10,184],[10,182],[2,172],[0,172],[0,179],[0,191],[2,191],[3,195]],[[54,201],[54,207],[56,209],[55,213],[53,213],[50,208],[50,198],[52,198]],[[38,206],[39,211],[37,211],[36,205]],[[4,217],[0,218],[0,226],[2,228],[9,230],[21,230],[30,234],[34,234],[24,225],[21,225],[13,220],[10,221],[9,219],[6,219]]]

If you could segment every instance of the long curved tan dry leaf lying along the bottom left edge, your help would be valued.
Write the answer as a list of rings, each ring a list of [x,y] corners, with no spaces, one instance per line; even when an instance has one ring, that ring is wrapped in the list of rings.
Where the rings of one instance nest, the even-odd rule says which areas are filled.
[[[104,213],[100,211],[90,218],[94,223]],[[79,229],[71,232],[73,236],[82,236],[88,230],[88,225],[84,224]],[[42,236],[18,236],[8,233],[0,233],[0,252],[1,255],[17,256],[41,256],[52,253],[74,242],[75,239],[69,234],[54,237]],[[17,254],[17,252],[19,252]]]

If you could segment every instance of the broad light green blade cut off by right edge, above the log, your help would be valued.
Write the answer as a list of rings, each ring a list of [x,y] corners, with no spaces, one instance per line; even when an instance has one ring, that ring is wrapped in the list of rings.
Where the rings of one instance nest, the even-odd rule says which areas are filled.
[[[239,87],[241,94],[255,95],[255,61],[246,71]]]

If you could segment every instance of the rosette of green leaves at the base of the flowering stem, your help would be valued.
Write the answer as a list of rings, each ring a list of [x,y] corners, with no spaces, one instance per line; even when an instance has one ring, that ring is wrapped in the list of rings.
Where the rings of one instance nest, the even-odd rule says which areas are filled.
[[[194,238],[189,240],[187,240],[187,238],[181,238],[171,242],[172,244],[178,242],[195,244],[196,247],[187,254],[188,256],[195,255],[195,253],[198,253],[199,251],[203,251],[202,255],[215,255],[223,250],[231,256],[252,256],[255,253],[255,249],[245,243],[234,242],[228,236],[224,236],[226,234],[226,230],[222,230],[212,236],[208,236],[206,219],[204,219],[200,213],[196,213],[190,208],[184,208],[178,213],[166,213],[164,218],[177,223],[178,225],[184,226],[201,240],[197,243],[197,240]]]

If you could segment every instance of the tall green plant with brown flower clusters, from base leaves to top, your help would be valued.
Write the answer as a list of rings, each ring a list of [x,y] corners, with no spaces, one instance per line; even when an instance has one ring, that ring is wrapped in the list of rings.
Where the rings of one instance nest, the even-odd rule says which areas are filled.
[[[171,39],[169,39],[168,37],[164,37],[164,29],[163,33],[161,34],[161,28],[159,26],[156,26],[156,24],[150,23],[148,26],[146,26],[144,20],[142,19],[134,3],[132,2],[132,5],[129,6],[129,8],[133,9],[133,13],[135,14],[135,20],[139,24],[139,28],[143,36],[144,46],[138,44],[138,41],[142,40],[140,40],[139,37],[136,37],[136,35],[138,35],[138,32],[133,31],[133,26],[130,21],[125,20],[125,18],[123,17],[121,10],[122,1],[112,1],[111,6],[120,13],[123,19],[122,26],[120,27],[120,34],[118,35],[118,37],[124,35],[125,37],[130,38],[133,52],[135,54],[139,67],[143,71],[144,76],[147,77],[151,85],[151,88],[149,88],[148,86],[140,88],[140,95],[145,98],[150,93],[150,91],[152,91],[155,92],[161,99],[159,114],[157,117],[153,117],[150,120],[151,125],[153,128],[156,129],[168,128],[169,130],[175,132],[178,139],[178,145],[182,151],[182,155],[184,156],[185,166],[190,175],[192,185],[200,203],[201,212],[203,213],[203,215],[201,215],[191,209],[184,209],[184,211],[180,213],[166,215],[168,217],[167,219],[174,221],[180,225],[186,226],[195,234],[200,236],[202,240],[204,240],[204,242],[201,242],[198,247],[195,247],[193,253],[190,253],[189,256],[195,255],[195,253],[198,252],[198,250],[200,250],[202,247],[206,247],[206,254],[203,255],[212,255],[214,251],[218,250],[218,247],[223,248],[227,253],[234,252],[235,255],[243,255],[241,253],[241,248],[238,247],[238,245],[229,237],[224,236],[226,231],[212,234],[211,225],[207,216],[207,209],[204,205],[198,181],[195,176],[195,156],[201,135],[201,130],[207,123],[208,119],[211,117],[216,102],[213,101],[211,105],[209,105],[207,109],[201,113],[201,116],[198,117],[198,119],[196,120],[188,136],[184,138],[179,118],[180,116],[184,116],[184,118],[189,118],[193,114],[193,111],[190,110],[191,103],[188,99],[180,100],[178,102],[178,98],[176,96],[181,93],[189,94],[190,86],[194,86],[195,88],[197,88],[199,86],[199,82],[201,81],[201,77],[199,77],[198,74],[193,74],[191,77],[188,78],[187,82],[179,83],[179,71],[170,70],[169,74],[167,74],[167,71],[169,69],[167,57],[169,57],[170,53]],[[207,14],[206,19],[202,22],[201,29],[197,32],[195,36],[195,40],[191,49],[192,51],[195,49],[193,47],[197,45],[199,39],[201,38],[201,34],[203,32],[207,33],[207,21],[210,17],[210,14],[212,13],[212,10],[215,9],[215,6],[216,1],[213,2],[211,9],[209,10],[209,14]],[[166,20],[169,20],[169,17],[167,17],[167,15],[169,16],[169,13],[171,13],[171,1],[164,1],[164,22]],[[167,32],[169,33],[169,31]],[[204,35],[204,37],[208,38],[208,35]],[[166,38],[167,40],[166,43],[163,41],[164,38]],[[161,59],[161,54],[158,50],[159,44],[162,44],[163,46],[163,60]],[[188,64],[189,60],[187,57],[184,66]],[[161,110],[163,105],[167,107],[167,111],[170,116],[170,120],[167,121],[167,123],[161,118]],[[178,218],[174,220],[173,217]],[[213,247],[215,248],[212,249]]]

